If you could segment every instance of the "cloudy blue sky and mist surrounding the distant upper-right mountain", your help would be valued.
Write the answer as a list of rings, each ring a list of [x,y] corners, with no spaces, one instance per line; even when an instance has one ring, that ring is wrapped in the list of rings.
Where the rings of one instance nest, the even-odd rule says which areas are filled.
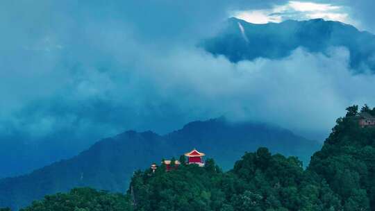
[[[197,43],[231,16],[257,24],[322,17],[374,33],[372,6],[346,0],[1,1],[0,144],[79,145],[129,129],[168,133],[222,115],[322,137],[352,103],[375,106],[367,89],[375,76],[351,74],[347,49],[299,48],[283,60],[234,64]]]

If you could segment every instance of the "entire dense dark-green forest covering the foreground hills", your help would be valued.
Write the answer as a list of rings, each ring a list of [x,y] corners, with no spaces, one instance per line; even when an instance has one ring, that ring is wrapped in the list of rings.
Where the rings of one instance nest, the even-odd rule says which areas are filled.
[[[161,165],[136,171],[125,195],[73,189],[24,210],[375,210],[375,128],[358,125],[357,105],[347,111],[307,169],[262,147],[230,171],[213,159],[172,171]],[[367,105],[361,111],[375,114]]]

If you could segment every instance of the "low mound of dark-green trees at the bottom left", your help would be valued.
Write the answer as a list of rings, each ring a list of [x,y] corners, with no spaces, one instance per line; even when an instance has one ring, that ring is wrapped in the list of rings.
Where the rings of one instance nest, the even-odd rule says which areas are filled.
[[[128,196],[122,194],[109,194],[96,191],[88,187],[72,189],[67,194],[55,194],[44,196],[42,201],[34,201],[33,204],[20,211],[130,211],[133,210]]]

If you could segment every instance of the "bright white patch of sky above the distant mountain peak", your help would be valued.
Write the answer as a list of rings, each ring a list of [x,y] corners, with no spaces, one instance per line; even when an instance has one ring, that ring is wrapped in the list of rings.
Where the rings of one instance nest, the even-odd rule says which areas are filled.
[[[350,17],[347,8],[329,3],[314,3],[306,1],[288,1],[285,5],[275,5],[264,10],[238,10],[234,17],[244,19],[253,24],[267,24],[269,22],[283,22],[286,19],[306,20],[323,18],[358,25]]]

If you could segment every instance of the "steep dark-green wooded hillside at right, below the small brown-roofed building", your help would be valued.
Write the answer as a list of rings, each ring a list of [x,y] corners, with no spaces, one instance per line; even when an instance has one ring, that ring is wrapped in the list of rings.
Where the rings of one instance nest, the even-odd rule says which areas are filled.
[[[375,210],[375,128],[361,128],[353,118],[358,105],[340,118],[321,151],[313,155],[308,171],[326,180],[338,194],[344,210]],[[372,114],[375,108],[363,106]]]

